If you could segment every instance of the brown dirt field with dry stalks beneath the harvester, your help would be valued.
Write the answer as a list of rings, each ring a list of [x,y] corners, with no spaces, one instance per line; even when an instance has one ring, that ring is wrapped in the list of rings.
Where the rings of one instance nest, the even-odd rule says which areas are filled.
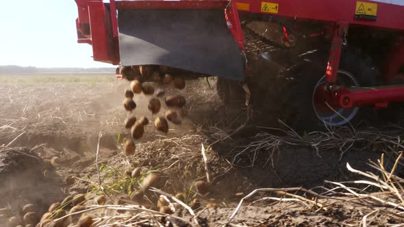
[[[187,99],[182,123],[170,124],[167,134],[157,132],[153,123],[145,126],[135,155],[126,157],[122,143],[130,132],[123,126],[127,112],[122,101],[127,81],[116,81],[114,75],[1,76],[0,226],[7,226],[12,216],[23,219],[25,204],[37,206],[41,216],[52,203],[77,193],[86,198],[80,204],[92,208],[87,213],[97,220],[94,226],[403,226],[404,180],[401,163],[394,165],[402,128],[307,134],[279,124],[279,129],[245,126],[234,131],[239,125],[233,122],[246,118],[245,109],[234,113],[224,107],[216,81],[209,82],[187,81],[179,92]],[[135,97],[135,114],[153,121],[166,107],[152,116],[148,99]],[[362,172],[347,169],[347,163]],[[141,176],[127,176],[136,167]],[[10,172],[2,175],[1,170]],[[142,208],[133,201],[116,202],[140,189],[150,172],[160,175],[155,187],[169,200],[169,195],[183,193],[181,200],[192,211],[173,200],[173,215],[147,210],[155,210],[161,191],[144,191]],[[209,192],[201,195],[193,185],[207,181],[207,175]],[[66,177],[74,183],[66,183]],[[244,196],[263,188],[231,217]],[[93,198],[104,193],[109,205],[94,205]]]

